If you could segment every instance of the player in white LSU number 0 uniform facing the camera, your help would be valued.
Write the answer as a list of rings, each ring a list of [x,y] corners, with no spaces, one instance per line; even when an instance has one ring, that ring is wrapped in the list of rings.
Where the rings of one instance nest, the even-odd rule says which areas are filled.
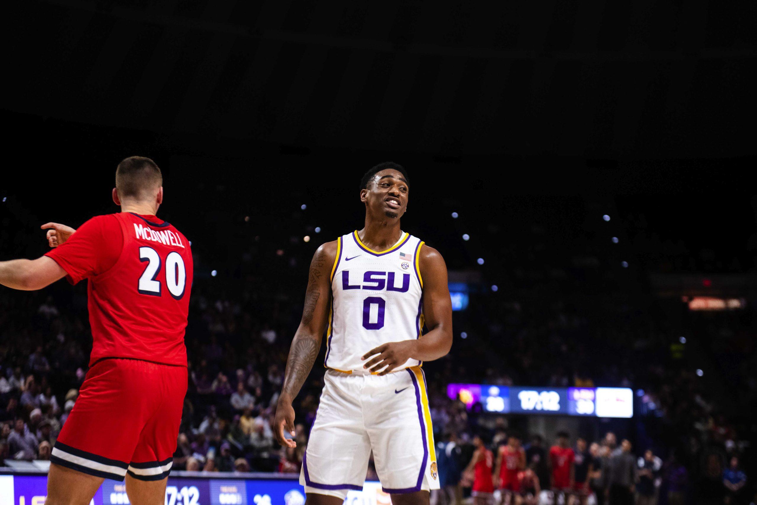
[[[291,404],[326,330],[326,385],[300,475],[307,505],[341,505],[363,489],[371,451],[393,505],[427,504],[439,488],[420,366],[450,351],[452,304],[441,254],[400,228],[409,192],[403,167],[373,167],[360,183],[365,226],[310,263],[274,422],[279,443],[294,447],[284,434],[294,435]]]

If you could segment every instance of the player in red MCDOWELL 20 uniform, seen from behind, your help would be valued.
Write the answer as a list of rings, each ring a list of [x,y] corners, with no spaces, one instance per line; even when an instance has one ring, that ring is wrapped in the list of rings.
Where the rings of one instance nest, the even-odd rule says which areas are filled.
[[[162,185],[152,160],[126,158],[112,192],[119,214],[76,230],[47,223],[52,251],[0,262],[9,288],[89,280],[92,356],[52,450],[47,505],[89,505],[103,479],[124,478],[134,505],[164,503],[187,388],[193,265],[185,236],[155,216]]]

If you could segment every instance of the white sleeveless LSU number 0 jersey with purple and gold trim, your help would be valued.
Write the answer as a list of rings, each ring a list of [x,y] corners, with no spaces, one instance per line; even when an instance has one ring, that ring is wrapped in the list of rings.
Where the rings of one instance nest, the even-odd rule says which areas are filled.
[[[332,309],[324,366],[362,370],[360,358],[387,342],[419,338],[423,328],[423,279],[419,251],[424,242],[402,232],[386,251],[372,251],[357,231],[337,240],[332,267]],[[397,370],[417,366],[407,360]]]

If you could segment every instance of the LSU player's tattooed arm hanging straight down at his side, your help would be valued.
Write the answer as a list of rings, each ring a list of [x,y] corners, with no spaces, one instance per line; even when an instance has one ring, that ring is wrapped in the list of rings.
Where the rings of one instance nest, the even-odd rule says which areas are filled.
[[[331,271],[336,258],[336,242],[322,245],[310,262],[310,278],[305,292],[305,307],[302,320],[289,348],[289,357],[284,373],[284,385],[276,406],[274,432],[279,444],[295,447],[292,440],[284,436],[284,429],[294,435],[294,408],[291,404],[300,392],[305,379],[313,368],[313,363],[321,348],[321,338],[329,323],[329,302],[331,301]]]

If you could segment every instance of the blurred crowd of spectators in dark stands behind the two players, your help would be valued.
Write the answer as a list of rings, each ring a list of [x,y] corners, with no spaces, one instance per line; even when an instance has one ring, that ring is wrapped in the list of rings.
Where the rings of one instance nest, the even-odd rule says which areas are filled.
[[[55,436],[76,401],[77,388],[86,376],[90,338],[86,310],[77,300],[82,294],[77,293],[64,299],[45,292],[18,296],[5,291],[0,295],[0,303],[8,307],[0,315],[3,459],[48,459]],[[186,338],[190,381],[174,469],[300,469],[318,407],[322,372],[317,362],[298,397],[294,437],[298,446],[279,447],[270,422],[298,315],[294,307],[284,310],[279,302],[255,299],[251,293],[226,298],[201,288],[193,292]],[[484,307],[485,300],[475,299],[470,310],[492,310]],[[246,306],[258,303],[268,307],[249,310]],[[618,320],[612,319],[612,313],[604,313],[599,323],[575,306],[572,310],[557,302],[545,306],[542,300],[540,310],[533,309],[539,317],[530,313],[528,306],[527,299],[503,304],[498,311],[500,323],[469,327],[471,336],[457,339],[451,357],[427,365],[440,475],[453,490],[447,488],[451,499],[464,496],[454,490],[471,485],[462,470],[471,457],[474,435],[485,436],[496,449],[506,443],[509,432],[509,419],[484,413],[480,404],[466,409],[462,402],[448,398],[444,378],[454,377],[459,382],[503,385],[637,388],[643,396],[637,398],[640,416],[634,418],[637,430],[629,435],[633,442],[627,456],[633,460],[634,472],[621,480],[632,489],[629,493],[640,499],[650,496],[650,500],[657,500],[662,493],[662,503],[748,503],[754,492],[753,481],[747,477],[753,476],[754,468],[743,468],[738,461],[745,453],[753,454],[747,441],[753,434],[745,432],[749,425],[743,424],[749,419],[732,416],[724,409],[723,398],[707,391],[696,372],[684,364],[675,365],[681,361],[678,354],[690,348],[688,344],[683,346],[686,351],[675,345],[671,350],[671,339],[650,324],[649,313],[616,311]],[[259,320],[254,313],[267,315]],[[466,319],[475,320],[475,313]],[[727,328],[724,323],[718,325]],[[497,357],[486,353],[494,363],[472,366],[466,356],[480,357],[481,350],[461,351],[484,332],[492,336],[490,343]],[[579,333],[584,338],[578,338]],[[723,344],[720,341],[718,346]],[[746,378],[742,384],[754,393]],[[575,441],[581,435],[573,433],[571,437]],[[545,490],[550,489],[544,466],[548,444],[538,433],[525,440],[528,466]],[[606,465],[617,455],[618,447],[608,435],[601,444],[575,449],[580,456],[577,462],[593,462],[591,472],[575,463],[581,468],[576,479],[588,479],[589,488],[597,491],[600,499],[602,492],[617,485]],[[372,468],[370,477],[376,477]],[[440,496],[442,500],[447,497]]]

